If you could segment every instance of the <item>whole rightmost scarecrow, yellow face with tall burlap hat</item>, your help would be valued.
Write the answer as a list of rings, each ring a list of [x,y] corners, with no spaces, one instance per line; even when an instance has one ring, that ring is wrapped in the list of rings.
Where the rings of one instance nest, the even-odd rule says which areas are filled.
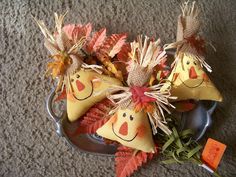
[[[222,96],[210,81],[203,67],[211,72],[205,62],[205,41],[197,34],[199,31],[199,9],[195,2],[192,6],[185,3],[182,15],[178,19],[177,41],[168,44],[165,49],[176,48],[172,72],[163,89],[171,86],[171,94],[177,100],[213,100],[222,101]]]

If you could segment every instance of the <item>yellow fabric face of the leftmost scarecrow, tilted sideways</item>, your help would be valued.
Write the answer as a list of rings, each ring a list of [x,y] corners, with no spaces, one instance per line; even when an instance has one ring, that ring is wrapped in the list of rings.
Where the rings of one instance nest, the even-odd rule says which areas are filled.
[[[70,121],[77,120],[90,107],[106,98],[106,92],[95,95],[97,92],[106,90],[111,84],[122,85],[116,78],[91,70],[81,69],[69,79],[72,91],[67,92],[67,114]]]

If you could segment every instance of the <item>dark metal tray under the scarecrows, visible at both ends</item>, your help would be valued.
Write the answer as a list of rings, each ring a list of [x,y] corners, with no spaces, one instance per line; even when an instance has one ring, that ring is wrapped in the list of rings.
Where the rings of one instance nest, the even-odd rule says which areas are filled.
[[[55,91],[53,90],[47,99],[47,111],[56,124],[56,132],[59,136],[82,152],[88,152],[98,155],[113,156],[117,146],[105,144],[103,138],[96,134],[75,135],[75,131],[80,124],[80,120],[70,122],[67,113],[64,111],[61,116],[57,116],[53,111],[53,99]],[[205,105],[206,101],[199,101],[196,108],[180,115],[180,130],[192,129],[194,131],[193,139],[198,141],[206,132],[211,124],[211,114],[216,108],[216,102],[210,103],[209,108]]]

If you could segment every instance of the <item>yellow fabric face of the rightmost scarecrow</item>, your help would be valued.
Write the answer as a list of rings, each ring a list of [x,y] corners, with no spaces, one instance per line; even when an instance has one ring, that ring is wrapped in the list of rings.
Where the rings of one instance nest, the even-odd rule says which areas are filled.
[[[190,68],[193,67],[197,78],[190,78]],[[179,60],[176,67],[168,77],[168,81],[162,90],[171,86],[172,96],[177,96],[177,100],[196,99],[222,101],[222,96],[198,61],[191,56],[183,55],[182,62]]]

